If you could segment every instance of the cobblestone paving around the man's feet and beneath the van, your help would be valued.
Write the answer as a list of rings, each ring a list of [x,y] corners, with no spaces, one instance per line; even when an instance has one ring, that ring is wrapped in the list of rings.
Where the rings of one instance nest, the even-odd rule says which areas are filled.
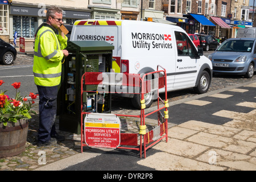
[[[19,65],[31,65],[33,61],[32,54],[22,55],[18,54],[17,59],[12,66]],[[0,67],[5,67],[6,65],[0,65]],[[256,75],[251,80],[256,80]],[[228,86],[233,86],[237,84],[242,84],[251,81],[247,78],[241,76],[214,76],[212,84],[208,92],[214,90],[223,89]],[[189,98],[196,96],[192,89],[180,90],[177,92],[168,93],[168,100],[170,105],[172,102],[181,100],[183,98]],[[153,106],[156,103],[153,104]],[[130,100],[126,98],[115,100],[112,104],[112,113],[114,114],[128,114],[135,109],[131,107]],[[38,107],[34,107],[35,111],[38,111]],[[57,143],[53,146],[38,147],[36,146],[37,140],[37,129],[38,129],[38,115],[32,116],[28,126],[28,137],[26,143],[26,151],[20,155],[16,155],[9,158],[0,159],[0,171],[23,171],[23,170],[33,170],[41,167],[40,163],[40,151],[44,151],[46,154],[47,164],[68,158],[69,156],[80,153],[80,135],[68,133],[65,131],[59,131],[60,135],[65,136],[65,141]],[[153,123],[150,123],[154,125]],[[56,129],[58,129],[59,120],[56,119]],[[139,123],[135,122],[133,119],[121,118],[121,132],[123,133],[138,133]]]

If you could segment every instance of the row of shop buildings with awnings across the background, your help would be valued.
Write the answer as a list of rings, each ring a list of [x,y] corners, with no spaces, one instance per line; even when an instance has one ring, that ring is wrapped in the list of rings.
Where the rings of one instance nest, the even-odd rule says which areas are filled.
[[[17,32],[17,42],[23,37],[27,45],[32,44],[51,5],[64,10],[67,24],[79,19],[152,18],[155,22],[176,24],[190,34],[203,30],[226,38],[236,37],[239,27],[253,25],[249,0],[0,0],[0,38],[13,43]]]

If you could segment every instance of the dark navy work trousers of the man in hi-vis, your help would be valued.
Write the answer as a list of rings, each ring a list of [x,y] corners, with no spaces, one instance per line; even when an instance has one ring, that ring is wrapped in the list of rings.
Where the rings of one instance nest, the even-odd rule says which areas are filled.
[[[39,130],[38,143],[46,143],[56,134],[57,86],[39,86]]]

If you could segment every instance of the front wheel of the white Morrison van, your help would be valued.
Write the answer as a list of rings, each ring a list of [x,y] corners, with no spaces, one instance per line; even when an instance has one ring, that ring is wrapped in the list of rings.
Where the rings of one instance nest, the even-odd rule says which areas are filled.
[[[206,93],[210,87],[210,76],[207,71],[203,71],[197,82],[197,86],[194,88],[196,93]]]

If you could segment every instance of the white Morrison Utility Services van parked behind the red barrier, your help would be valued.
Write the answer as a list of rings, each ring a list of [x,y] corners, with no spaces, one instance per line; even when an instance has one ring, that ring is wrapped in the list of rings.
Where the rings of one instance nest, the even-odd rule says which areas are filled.
[[[179,26],[136,20],[77,20],[70,40],[113,44],[115,72],[142,74],[156,71],[161,65],[167,72],[168,91],[195,88],[197,93],[205,93],[212,80],[211,61]],[[144,96],[146,107],[153,102],[152,94]],[[141,108],[139,94],[122,96],[132,98],[133,105]]]

